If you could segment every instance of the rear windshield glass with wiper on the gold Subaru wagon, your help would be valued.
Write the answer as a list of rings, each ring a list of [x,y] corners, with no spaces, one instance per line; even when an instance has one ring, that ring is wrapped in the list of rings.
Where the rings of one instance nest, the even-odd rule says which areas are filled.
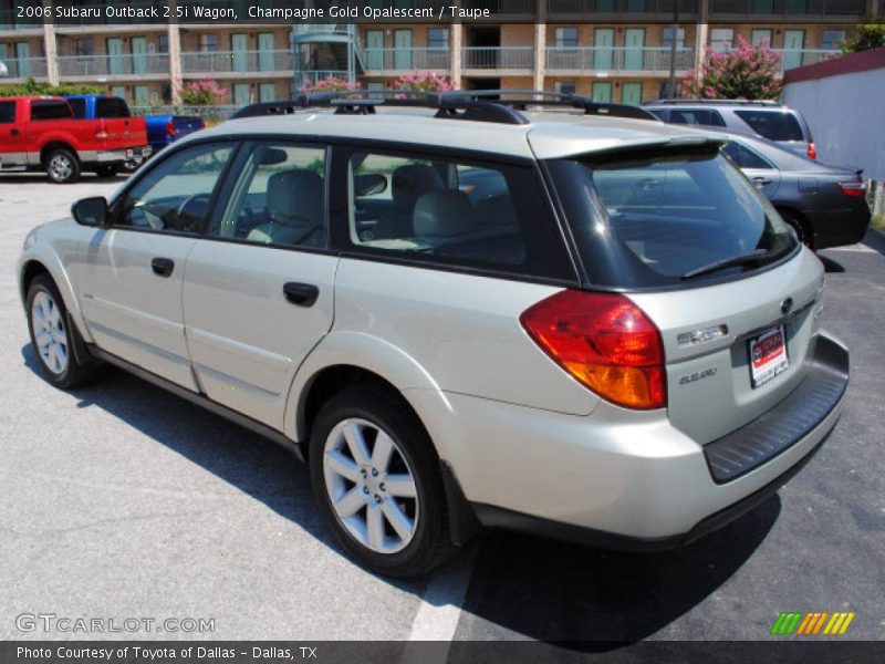
[[[554,159],[549,166],[594,284],[720,280],[796,247],[768,200],[716,146]]]

